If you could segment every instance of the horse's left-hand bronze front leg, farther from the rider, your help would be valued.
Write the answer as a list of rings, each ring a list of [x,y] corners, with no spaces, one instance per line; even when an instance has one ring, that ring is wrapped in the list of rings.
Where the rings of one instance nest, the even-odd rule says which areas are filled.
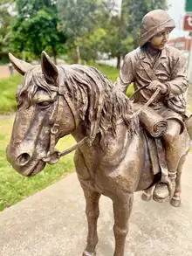
[[[98,243],[97,220],[99,218],[99,197],[96,191],[82,186],[86,197],[86,218],[88,223],[88,235],[86,249],[83,256],[96,256],[95,247]]]

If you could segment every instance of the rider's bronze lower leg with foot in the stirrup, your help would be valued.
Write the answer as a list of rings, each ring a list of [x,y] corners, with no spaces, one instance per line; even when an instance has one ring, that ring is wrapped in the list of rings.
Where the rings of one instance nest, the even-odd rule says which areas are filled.
[[[171,180],[173,189],[175,187],[175,177],[178,165],[178,159],[180,158],[180,146],[177,140],[181,131],[181,125],[178,121],[168,120],[168,128],[163,135],[165,153],[168,163],[168,178]],[[168,185],[165,183],[159,183],[154,190],[154,200],[158,202],[164,202],[169,197]]]

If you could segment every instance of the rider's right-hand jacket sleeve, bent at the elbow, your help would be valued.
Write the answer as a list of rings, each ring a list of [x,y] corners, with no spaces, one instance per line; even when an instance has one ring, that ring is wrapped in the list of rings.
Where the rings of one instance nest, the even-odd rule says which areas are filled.
[[[178,51],[177,58],[172,61],[172,80],[168,81],[166,85],[168,86],[168,98],[172,98],[176,95],[184,93],[188,86],[189,81],[186,77],[186,66],[185,61],[182,58],[182,54]]]

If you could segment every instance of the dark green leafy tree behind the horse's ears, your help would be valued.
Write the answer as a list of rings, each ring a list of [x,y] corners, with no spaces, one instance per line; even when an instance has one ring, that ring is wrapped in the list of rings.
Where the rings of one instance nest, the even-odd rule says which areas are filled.
[[[17,0],[17,18],[12,25],[11,46],[17,52],[32,52],[35,57],[45,50],[56,63],[64,52],[65,33],[59,28],[58,10],[51,0]]]

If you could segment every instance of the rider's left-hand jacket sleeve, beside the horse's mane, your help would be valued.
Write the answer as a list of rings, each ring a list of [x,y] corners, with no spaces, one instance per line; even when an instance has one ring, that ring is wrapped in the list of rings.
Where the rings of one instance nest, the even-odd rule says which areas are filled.
[[[127,87],[134,82],[134,63],[129,55],[126,55],[123,66],[120,69],[120,76],[114,84],[116,89],[126,93]]]

